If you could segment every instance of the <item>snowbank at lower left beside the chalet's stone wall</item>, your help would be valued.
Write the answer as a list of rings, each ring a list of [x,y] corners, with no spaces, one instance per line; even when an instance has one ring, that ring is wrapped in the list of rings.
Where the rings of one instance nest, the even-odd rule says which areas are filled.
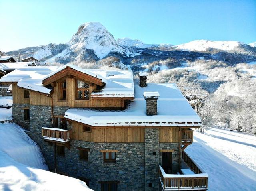
[[[0,108],[0,121],[11,114],[11,108]],[[20,126],[0,123],[0,191],[92,191],[78,179],[47,169],[39,146]]]

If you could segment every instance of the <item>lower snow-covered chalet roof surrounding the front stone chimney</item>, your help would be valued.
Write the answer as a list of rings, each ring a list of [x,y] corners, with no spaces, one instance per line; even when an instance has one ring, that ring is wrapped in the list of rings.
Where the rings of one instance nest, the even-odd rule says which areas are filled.
[[[200,126],[201,119],[174,83],[135,85],[135,99],[123,111],[72,108],[65,117],[91,126]],[[158,91],[158,114],[146,115],[144,91]]]

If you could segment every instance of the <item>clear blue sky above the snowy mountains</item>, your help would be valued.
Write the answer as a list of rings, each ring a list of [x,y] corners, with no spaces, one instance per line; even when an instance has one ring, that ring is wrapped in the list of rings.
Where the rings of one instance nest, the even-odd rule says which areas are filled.
[[[256,0],[0,0],[0,18],[1,51],[66,43],[92,21],[144,43],[256,41]]]

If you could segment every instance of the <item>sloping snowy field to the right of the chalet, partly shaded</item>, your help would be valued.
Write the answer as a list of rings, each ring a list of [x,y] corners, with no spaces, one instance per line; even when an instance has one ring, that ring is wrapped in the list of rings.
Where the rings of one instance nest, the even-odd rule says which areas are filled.
[[[209,191],[252,191],[256,188],[256,136],[211,128],[194,131],[186,148],[209,175]]]

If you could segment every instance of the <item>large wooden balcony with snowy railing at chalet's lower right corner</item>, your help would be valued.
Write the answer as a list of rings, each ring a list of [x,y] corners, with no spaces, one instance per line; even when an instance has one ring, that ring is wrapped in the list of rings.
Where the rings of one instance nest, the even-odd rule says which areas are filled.
[[[181,169],[180,173],[191,172],[186,174],[166,174],[159,165],[159,179],[164,191],[179,190],[207,190],[208,174],[199,167],[187,154],[183,151],[183,161],[189,167]]]

